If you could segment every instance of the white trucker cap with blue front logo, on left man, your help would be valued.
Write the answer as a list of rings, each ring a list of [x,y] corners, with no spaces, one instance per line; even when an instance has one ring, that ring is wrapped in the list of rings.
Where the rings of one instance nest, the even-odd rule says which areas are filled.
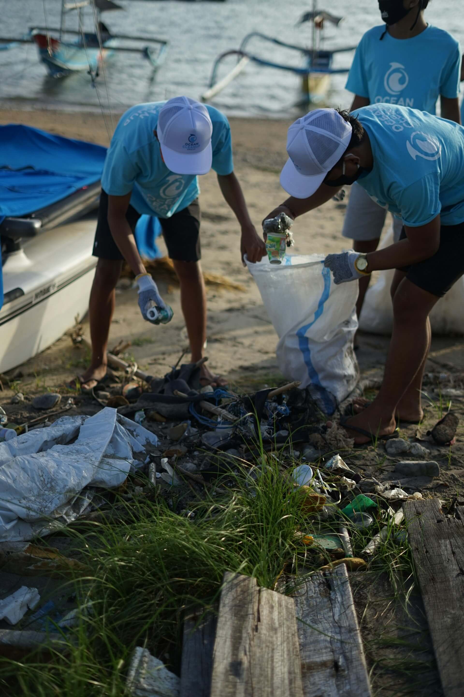
[[[207,174],[211,169],[213,124],[207,108],[188,97],[168,100],[158,115],[163,160],[176,174]]]

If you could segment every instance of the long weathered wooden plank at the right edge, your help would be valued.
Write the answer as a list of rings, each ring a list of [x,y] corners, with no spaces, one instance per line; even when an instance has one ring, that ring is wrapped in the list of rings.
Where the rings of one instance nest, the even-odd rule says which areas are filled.
[[[438,499],[406,501],[408,538],[445,697],[464,695],[464,522]]]

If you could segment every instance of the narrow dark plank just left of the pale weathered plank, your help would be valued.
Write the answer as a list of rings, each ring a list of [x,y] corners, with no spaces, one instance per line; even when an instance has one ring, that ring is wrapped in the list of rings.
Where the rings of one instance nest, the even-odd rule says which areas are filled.
[[[189,615],[184,620],[179,697],[209,697],[216,615]],[[200,619],[201,618],[201,619]]]

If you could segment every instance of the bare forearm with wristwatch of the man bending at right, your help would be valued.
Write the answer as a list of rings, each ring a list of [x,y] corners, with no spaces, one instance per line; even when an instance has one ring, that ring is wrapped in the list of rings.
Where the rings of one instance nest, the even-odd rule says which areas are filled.
[[[406,240],[366,254],[369,271],[401,268],[430,259],[440,246],[440,215],[419,227],[406,227]]]

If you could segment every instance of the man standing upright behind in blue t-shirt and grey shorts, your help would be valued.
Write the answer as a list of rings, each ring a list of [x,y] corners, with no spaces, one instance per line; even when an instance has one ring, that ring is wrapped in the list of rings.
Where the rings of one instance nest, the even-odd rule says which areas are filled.
[[[346,81],[354,93],[351,112],[369,104],[396,104],[435,114],[440,97],[441,116],[460,123],[458,93],[461,51],[451,34],[426,24],[429,0],[379,0],[385,24],[369,29],[356,49]],[[377,249],[385,210],[362,187],[351,189],[342,235],[353,240],[355,251]],[[393,217],[394,239],[401,220]],[[356,309],[362,309],[369,277],[360,279]]]

